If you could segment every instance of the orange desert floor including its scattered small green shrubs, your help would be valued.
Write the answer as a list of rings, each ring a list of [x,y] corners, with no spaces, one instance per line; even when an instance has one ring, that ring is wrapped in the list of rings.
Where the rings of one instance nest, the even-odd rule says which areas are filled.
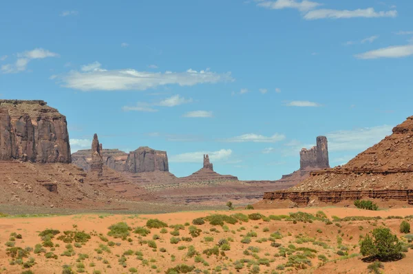
[[[282,216],[298,211],[313,216],[323,211],[332,223],[320,218],[308,221],[313,218],[308,215],[306,222]],[[264,215],[264,220],[261,215],[260,220],[242,221],[252,213]],[[224,219],[223,226],[214,226],[209,220],[205,220],[204,224],[193,224],[196,218],[214,214],[237,214],[240,220],[230,224]],[[182,264],[192,271],[188,273],[368,273],[369,263],[363,262],[359,255],[360,235],[385,226],[407,242],[405,239],[408,236],[399,233],[399,226],[401,218],[411,214],[412,209],[407,208],[367,211],[324,207],[189,211],[156,215],[93,213],[25,218],[10,215],[0,218],[0,273],[23,273],[28,270],[35,274],[186,273],[185,266],[179,268]],[[332,216],[381,218],[338,220]],[[149,228],[147,222],[151,219],[165,222],[168,227]],[[219,222],[219,218],[215,220]],[[229,222],[233,222],[231,220]],[[412,224],[410,218],[405,220]],[[109,226],[118,222],[125,222],[131,229],[125,226],[125,230],[117,231],[120,237],[125,234],[123,239],[108,235]],[[175,226],[177,224],[180,226]],[[192,226],[201,230],[198,230],[199,235],[196,235],[197,231],[193,235],[189,233],[190,228],[194,230]],[[45,229],[59,233],[46,235],[42,240],[39,234]],[[74,231],[73,239],[70,238],[71,233],[63,231]],[[78,233],[81,231],[85,233]],[[90,235],[90,239],[85,235]],[[73,241],[68,243],[70,240]],[[45,246],[36,248],[36,244]],[[10,253],[12,245],[23,249],[15,257]],[[214,246],[218,247],[213,249]],[[24,251],[26,247],[32,249]],[[337,251],[341,251],[341,255],[337,255]],[[20,260],[17,259],[19,254],[23,255]],[[402,260],[383,263],[383,273],[413,273],[412,254],[413,251],[408,249]],[[31,257],[34,262],[30,261]],[[169,268],[175,268],[176,272]]]

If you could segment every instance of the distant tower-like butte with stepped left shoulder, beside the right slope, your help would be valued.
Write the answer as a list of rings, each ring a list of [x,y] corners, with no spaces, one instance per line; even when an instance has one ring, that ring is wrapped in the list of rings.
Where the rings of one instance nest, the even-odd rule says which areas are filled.
[[[319,169],[329,168],[328,145],[326,136],[317,137],[317,145],[311,149],[301,149],[299,152],[299,168],[318,167]]]

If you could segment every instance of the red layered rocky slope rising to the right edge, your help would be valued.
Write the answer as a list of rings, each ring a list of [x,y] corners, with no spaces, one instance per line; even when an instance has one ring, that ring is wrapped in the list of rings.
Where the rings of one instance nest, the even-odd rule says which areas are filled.
[[[394,127],[390,136],[361,152],[346,165],[312,171],[306,180],[287,191],[264,193],[261,203],[289,200],[311,205],[377,198],[413,204],[412,160],[413,116],[410,116]]]

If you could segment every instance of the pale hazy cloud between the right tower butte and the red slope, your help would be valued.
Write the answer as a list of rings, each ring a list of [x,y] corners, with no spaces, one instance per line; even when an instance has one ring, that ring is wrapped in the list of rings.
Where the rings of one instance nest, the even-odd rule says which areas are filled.
[[[379,143],[380,140],[390,134],[392,134],[390,125],[333,131],[326,134],[328,151],[362,151]]]

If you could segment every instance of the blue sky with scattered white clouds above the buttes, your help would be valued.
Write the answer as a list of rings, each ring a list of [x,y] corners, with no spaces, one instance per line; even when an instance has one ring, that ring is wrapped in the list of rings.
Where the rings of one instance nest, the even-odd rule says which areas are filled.
[[[0,98],[67,116],[72,151],[166,150],[176,176],[341,165],[412,112],[413,1],[4,1]]]

